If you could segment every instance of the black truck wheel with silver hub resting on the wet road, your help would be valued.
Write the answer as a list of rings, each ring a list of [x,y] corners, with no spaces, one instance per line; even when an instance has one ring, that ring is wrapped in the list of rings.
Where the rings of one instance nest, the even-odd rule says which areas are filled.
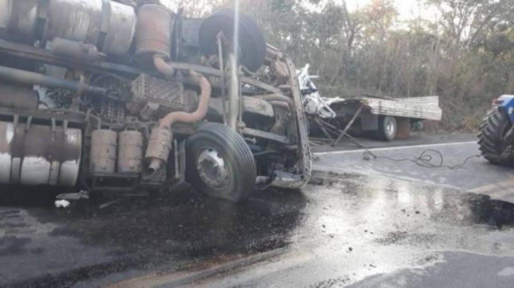
[[[233,202],[253,192],[255,160],[245,140],[232,129],[210,123],[186,143],[186,179],[202,193]]]

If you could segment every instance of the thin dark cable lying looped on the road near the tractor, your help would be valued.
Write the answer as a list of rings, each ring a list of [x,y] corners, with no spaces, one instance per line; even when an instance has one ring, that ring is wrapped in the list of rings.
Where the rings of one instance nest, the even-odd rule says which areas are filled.
[[[388,156],[377,156],[371,150],[365,150],[363,153],[363,159],[368,161],[371,159],[385,159],[393,162],[412,162],[424,168],[447,168],[450,170],[462,168],[468,163],[469,160],[480,157],[482,157],[480,154],[473,155],[464,159],[464,161],[461,164],[445,165],[445,158],[443,156],[443,153],[435,149],[426,149],[423,152],[421,152],[419,156],[414,158],[392,158]]]

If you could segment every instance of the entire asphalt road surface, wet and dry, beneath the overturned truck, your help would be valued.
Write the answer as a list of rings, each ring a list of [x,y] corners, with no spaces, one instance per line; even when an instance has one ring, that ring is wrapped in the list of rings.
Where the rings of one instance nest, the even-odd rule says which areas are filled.
[[[395,160],[436,149],[457,165],[478,153],[473,142],[366,147]],[[13,191],[0,198],[0,286],[512,287],[511,169],[316,149],[313,184],[237,205],[183,189],[56,210]]]

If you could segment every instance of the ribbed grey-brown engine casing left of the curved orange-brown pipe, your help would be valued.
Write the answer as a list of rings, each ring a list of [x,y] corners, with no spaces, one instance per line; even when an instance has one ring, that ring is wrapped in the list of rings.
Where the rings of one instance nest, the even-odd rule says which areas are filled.
[[[130,112],[138,115],[144,112],[142,118],[161,118],[173,111],[193,111],[198,106],[197,95],[193,91],[184,91],[181,83],[164,81],[141,74],[132,82],[133,103]],[[152,103],[150,107],[147,103]],[[158,108],[155,108],[158,104]],[[151,109],[143,109],[143,108]],[[153,110],[151,114],[147,110]]]

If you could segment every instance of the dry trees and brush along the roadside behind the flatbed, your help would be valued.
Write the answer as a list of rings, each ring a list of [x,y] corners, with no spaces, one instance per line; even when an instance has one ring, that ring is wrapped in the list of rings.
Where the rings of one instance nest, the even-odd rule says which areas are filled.
[[[298,66],[311,64],[323,96],[439,95],[443,121],[428,128],[474,131],[494,98],[514,93],[514,2],[412,1],[410,17],[394,0],[353,11],[344,0],[241,0],[241,10]],[[232,5],[208,2],[186,11]]]

